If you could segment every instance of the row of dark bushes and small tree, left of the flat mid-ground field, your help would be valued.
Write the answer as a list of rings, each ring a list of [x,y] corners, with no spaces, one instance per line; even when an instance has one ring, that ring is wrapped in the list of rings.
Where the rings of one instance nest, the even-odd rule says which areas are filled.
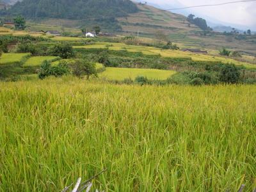
[[[82,58],[70,61],[69,63],[68,61],[60,61],[57,66],[52,66],[51,62],[44,61],[38,71],[40,79],[48,76],[61,77],[67,74],[73,74],[79,78],[85,76],[86,79],[89,79],[90,76],[97,77],[97,69],[95,63]]]

